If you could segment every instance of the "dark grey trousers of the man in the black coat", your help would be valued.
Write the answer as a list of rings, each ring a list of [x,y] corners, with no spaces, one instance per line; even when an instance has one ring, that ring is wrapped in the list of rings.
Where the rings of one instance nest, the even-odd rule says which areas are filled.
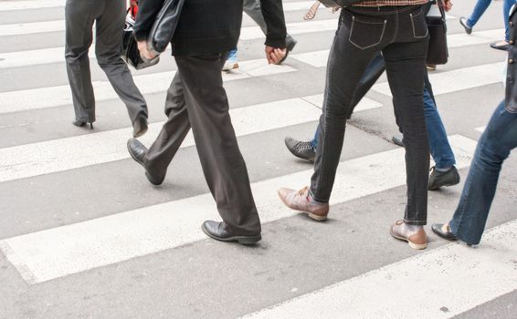
[[[167,91],[167,121],[143,162],[153,176],[163,177],[192,128],[206,183],[227,230],[256,235],[260,233],[258,212],[223,87],[226,58],[227,54],[175,57],[178,70]]]

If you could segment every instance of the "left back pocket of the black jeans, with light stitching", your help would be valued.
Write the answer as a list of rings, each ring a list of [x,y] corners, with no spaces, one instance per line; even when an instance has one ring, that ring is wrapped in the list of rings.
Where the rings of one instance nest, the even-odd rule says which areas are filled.
[[[348,40],[362,50],[377,46],[385,35],[386,22],[381,19],[367,21],[353,15]]]

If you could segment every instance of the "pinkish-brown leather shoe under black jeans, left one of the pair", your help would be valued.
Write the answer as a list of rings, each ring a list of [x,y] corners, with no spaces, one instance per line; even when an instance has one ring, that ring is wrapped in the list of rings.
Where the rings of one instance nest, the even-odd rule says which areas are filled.
[[[291,210],[305,212],[314,221],[325,221],[329,214],[328,203],[318,203],[309,198],[309,187],[301,190],[290,190],[281,188],[279,190],[280,200]]]

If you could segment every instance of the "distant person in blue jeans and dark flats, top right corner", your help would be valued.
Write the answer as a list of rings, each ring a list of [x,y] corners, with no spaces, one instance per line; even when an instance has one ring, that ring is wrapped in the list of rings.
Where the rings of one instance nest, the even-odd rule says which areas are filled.
[[[510,28],[509,28],[509,20],[508,16],[510,13],[510,9],[512,8],[512,5],[515,4],[515,0],[503,0],[502,1],[502,18],[504,20],[504,40],[501,40],[499,42],[495,42],[491,44],[492,48],[499,49],[499,50],[507,50],[510,47],[509,41],[510,41]],[[465,16],[461,16],[459,18],[459,24],[463,26],[465,29],[465,32],[470,35],[472,33],[472,29],[476,24],[478,23],[478,20],[480,20],[481,15],[485,13],[487,8],[491,5],[491,0],[478,0],[476,2],[476,5],[474,6],[474,10],[470,14],[469,18],[466,18]]]

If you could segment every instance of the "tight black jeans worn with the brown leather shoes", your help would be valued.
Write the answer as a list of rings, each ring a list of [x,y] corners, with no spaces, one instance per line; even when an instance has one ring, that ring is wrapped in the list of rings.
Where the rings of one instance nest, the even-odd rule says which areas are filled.
[[[406,144],[405,220],[425,225],[429,148],[423,91],[428,36],[423,7],[351,7],[343,9],[340,19],[327,66],[311,195],[315,201],[330,199],[353,93],[366,67],[382,52]]]

